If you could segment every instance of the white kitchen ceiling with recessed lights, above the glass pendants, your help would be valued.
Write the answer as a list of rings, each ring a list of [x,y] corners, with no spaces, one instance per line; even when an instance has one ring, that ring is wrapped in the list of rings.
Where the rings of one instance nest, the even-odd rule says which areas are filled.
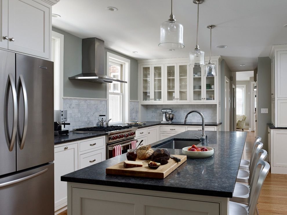
[[[119,10],[110,12],[109,6]],[[214,24],[212,55],[221,55],[232,71],[254,70],[257,57],[267,57],[271,45],[287,43],[286,8],[286,0],[205,0],[199,6],[199,47],[209,55],[206,26]],[[170,0],[60,0],[52,12],[61,15],[52,18],[56,28],[81,38],[97,37],[105,47],[135,59],[187,57],[195,48],[197,5],[192,0],[174,1],[175,18],[184,26],[185,48],[173,52],[158,47]]]

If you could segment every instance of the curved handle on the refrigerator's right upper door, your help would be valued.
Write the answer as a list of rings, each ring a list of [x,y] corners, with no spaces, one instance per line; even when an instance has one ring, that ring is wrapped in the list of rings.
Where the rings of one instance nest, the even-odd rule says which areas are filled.
[[[23,132],[22,132],[22,137],[20,137],[20,128],[19,128],[19,123],[17,126],[17,134],[19,136],[19,147],[20,149],[23,149],[24,144],[25,144],[25,140],[26,140],[26,135],[27,135],[27,128],[28,128],[28,100],[27,100],[27,90],[26,90],[26,85],[25,85],[25,81],[23,78],[23,75],[19,76],[19,81],[17,84],[17,101],[19,104],[19,99],[20,99],[20,90],[22,88],[22,92],[23,92],[23,100],[24,100],[24,126],[23,126]]]

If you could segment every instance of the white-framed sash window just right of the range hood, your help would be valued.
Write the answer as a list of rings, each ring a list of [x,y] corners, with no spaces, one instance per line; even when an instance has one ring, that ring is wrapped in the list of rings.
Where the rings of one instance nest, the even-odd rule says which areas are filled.
[[[129,116],[129,74],[130,60],[107,52],[107,74],[110,77],[127,81],[108,85],[108,118],[110,124],[124,123]]]

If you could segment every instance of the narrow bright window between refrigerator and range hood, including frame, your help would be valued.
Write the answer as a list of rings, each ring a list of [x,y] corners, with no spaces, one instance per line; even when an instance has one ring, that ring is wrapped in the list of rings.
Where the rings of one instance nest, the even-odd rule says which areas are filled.
[[[52,61],[54,62],[54,110],[63,109],[64,35],[52,31]]]

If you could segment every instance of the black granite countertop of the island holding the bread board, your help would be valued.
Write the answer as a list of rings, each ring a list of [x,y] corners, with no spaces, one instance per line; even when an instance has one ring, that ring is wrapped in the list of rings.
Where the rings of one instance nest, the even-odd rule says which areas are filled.
[[[122,154],[61,176],[61,181],[230,198],[247,132],[206,131],[206,134],[208,146],[214,148],[214,155],[209,158],[187,158],[186,162],[165,179],[106,175],[107,167],[126,160],[126,154]],[[200,132],[186,131],[157,141],[152,147],[171,140],[194,139],[195,135],[200,135]],[[170,154],[182,154],[181,150],[168,151]]]

